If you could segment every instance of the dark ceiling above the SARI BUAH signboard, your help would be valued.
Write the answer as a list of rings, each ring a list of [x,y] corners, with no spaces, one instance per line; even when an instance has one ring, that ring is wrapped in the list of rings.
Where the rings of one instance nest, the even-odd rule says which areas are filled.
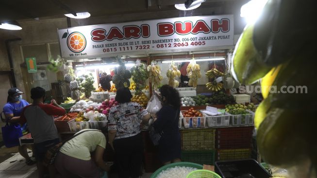
[[[92,17],[175,10],[185,0],[0,0],[0,22],[8,20],[59,18],[64,14],[89,12]],[[206,0],[200,8],[222,7],[233,14],[248,0]],[[198,9],[197,9],[198,10]],[[198,10],[199,11],[199,10]]]

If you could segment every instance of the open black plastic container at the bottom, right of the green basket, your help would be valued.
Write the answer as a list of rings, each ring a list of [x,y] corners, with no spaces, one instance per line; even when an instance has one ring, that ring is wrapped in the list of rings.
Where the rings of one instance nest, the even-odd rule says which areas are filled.
[[[222,178],[271,178],[256,160],[216,161],[215,172]]]

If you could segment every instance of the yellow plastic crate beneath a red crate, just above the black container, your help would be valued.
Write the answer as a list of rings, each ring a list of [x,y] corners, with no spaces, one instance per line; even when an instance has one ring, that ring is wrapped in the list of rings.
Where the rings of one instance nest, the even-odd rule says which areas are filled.
[[[251,149],[218,149],[217,160],[244,160],[251,157]]]

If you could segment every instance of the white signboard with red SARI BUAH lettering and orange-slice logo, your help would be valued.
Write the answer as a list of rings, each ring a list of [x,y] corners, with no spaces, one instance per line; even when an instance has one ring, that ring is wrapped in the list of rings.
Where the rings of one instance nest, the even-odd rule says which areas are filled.
[[[234,17],[167,18],[58,30],[62,57],[234,45]]]

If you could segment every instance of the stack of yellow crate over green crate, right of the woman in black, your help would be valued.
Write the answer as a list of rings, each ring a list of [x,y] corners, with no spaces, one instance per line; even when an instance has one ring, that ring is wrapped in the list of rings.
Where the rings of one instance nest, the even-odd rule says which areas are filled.
[[[214,165],[216,129],[181,130],[182,161]]]

